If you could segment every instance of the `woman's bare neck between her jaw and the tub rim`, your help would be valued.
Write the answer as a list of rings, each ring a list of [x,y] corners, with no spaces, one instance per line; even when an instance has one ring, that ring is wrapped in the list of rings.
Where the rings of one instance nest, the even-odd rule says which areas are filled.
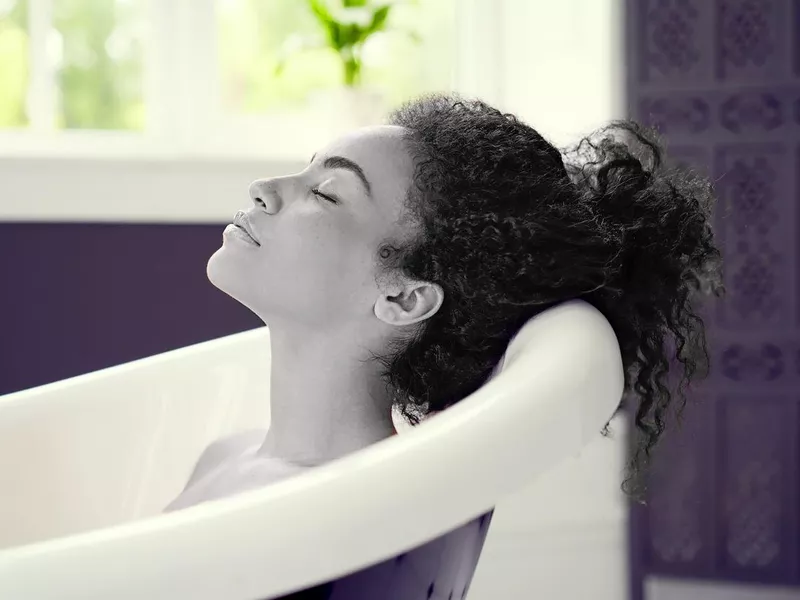
[[[258,455],[321,464],[395,433],[388,394],[353,332],[270,327],[270,427]]]

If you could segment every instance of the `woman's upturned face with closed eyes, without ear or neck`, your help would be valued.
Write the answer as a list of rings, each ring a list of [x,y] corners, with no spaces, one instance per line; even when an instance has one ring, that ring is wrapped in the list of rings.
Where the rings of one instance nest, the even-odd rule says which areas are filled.
[[[211,282],[270,325],[328,328],[370,318],[380,295],[379,246],[410,233],[401,217],[413,164],[402,134],[360,129],[299,173],[253,182],[241,227],[228,226],[208,262]]]

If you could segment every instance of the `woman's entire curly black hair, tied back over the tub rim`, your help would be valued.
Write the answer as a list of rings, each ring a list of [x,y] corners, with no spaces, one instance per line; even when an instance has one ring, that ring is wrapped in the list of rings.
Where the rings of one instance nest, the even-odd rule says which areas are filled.
[[[455,404],[532,316],[583,299],[616,332],[625,397],[638,401],[623,483],[638,495],[670,405],[682,408],[686,386],[708,371],[697,301],[724,291],[711,184],[667,167],[656,132],[631,121],[564,153],[515,116],[456,95],[413,100],[389,123],[405,128],[414,158],[407,214],[418,234],[387,241],[379,261],[444,289],[440,310],[376,357],[395,406],[417,424]]]

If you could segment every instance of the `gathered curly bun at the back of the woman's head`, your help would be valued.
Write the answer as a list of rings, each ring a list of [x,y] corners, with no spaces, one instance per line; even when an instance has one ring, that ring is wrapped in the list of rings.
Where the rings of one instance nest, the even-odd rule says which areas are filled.
[[[610,287],[647,296],[687,279],[700,286],[697,274],[707,270],[712,249],[713,190],[706,179],[665,163],[655,130],[615,121],[569,150],[565,167],[582,199],[612,225],[620,253]]]

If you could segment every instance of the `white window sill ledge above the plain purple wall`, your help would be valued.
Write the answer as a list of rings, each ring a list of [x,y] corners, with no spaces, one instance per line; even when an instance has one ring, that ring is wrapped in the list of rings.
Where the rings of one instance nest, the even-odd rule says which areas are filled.
[[[295,173],[307,162],[121,151],[3,157],[0,222],[229,223],[251,206],[251,181]]]

